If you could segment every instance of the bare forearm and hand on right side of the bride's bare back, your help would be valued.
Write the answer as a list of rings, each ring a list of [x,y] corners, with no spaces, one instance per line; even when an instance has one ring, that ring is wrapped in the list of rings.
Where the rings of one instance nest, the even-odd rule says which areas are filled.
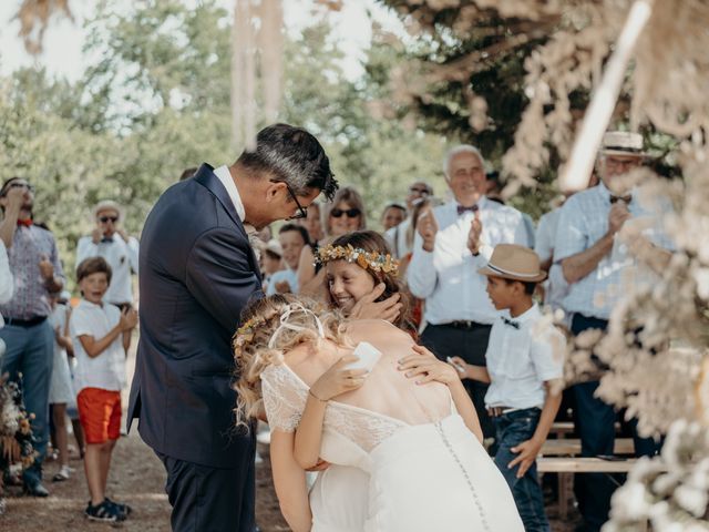
[[[475,434],[475,438],[483,442],[483,429],[480,427],[480,419],[475,412],[475,406],[470,399],[463,382],[458,376],[458,370],[450,364],[443,362],[423,346],[413,346],[417,355],[404,357],[399,361],[399,369],[407,372],[407,377],[415,378],[418,383],[425,383],[436,380],[448,386],[455,409],[467,429]]]

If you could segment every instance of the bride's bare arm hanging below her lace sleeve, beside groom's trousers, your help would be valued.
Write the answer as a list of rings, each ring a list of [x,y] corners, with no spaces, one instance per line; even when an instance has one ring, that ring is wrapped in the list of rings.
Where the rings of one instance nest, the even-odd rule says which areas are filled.
[[[308,502],[306,472],[292,453],[294,432],[271,430],[270,463],[280,512],[294,532],[309,532],[312,514]]]

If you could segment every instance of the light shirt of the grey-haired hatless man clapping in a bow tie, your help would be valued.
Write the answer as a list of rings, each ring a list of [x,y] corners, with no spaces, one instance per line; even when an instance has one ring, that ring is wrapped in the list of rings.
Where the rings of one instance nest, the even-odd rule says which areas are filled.
[[[484,196],[477,206],[483,231],[476,257],[467,248],[474,214],[469,211],[459,216],[454,201],[433,209],[439,225],[433,252],[423,250],[423,239],[417,232],[407,279],[411,293],[425,299],[424,319],[429,324],[455,320],[492,324],[497,314],[487,297],[487,278],[480,275],[477,268],[487,264],[497,244],[527,244],[518,211]]]

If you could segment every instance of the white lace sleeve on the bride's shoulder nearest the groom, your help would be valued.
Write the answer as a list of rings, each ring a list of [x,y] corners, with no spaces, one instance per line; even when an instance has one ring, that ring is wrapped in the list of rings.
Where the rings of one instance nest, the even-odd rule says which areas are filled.
[[[308,399],[304,383],[288,368],[269,366],[261,374],[261,393],[268,424],[285,432],[296,430]]]

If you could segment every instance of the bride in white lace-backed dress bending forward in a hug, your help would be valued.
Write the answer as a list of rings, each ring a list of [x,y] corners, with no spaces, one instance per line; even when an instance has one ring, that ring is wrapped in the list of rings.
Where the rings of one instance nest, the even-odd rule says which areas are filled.
[[[345,323],[292,296],[256,301],[244,318],[237,418],[247,423],[263,397],[294,531],[524,530],[454,369],[386,321]],[[345,368],[360,341],[382,352],[369,374]],[[301,464],[318,454],[337,482],[328,489],[326,470],[308,499]]]

